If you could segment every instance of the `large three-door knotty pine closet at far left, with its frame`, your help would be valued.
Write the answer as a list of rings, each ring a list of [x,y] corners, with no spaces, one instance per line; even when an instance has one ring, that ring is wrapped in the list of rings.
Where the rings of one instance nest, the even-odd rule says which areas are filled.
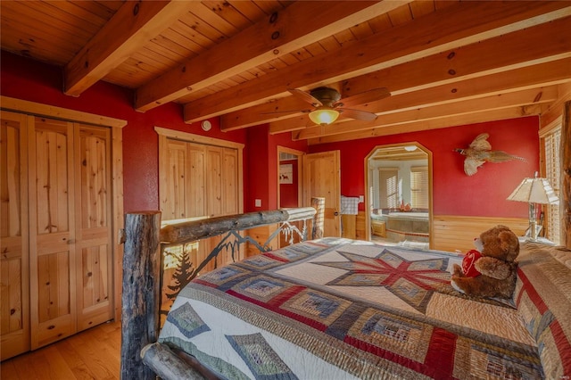
[[[13,251],[3,257],[1,271],[2,298],[8,301],[2,303],[2,313],[8,313],[2,320],[10,323],[2,324],[3,359],[114,317],[113,308],[117,307],[112,297],[116,293],[112,289],[112,255],[117,242],[112,229],[122,226],[117,218],[119,212],[122,214],[122,191],[118,199],[116,191],[121,186],[115,183],[122,176],[112,176],[120,173],[112,169],[112,162],[122,161],[117,147],[120,128],[61,120],[62,116],[79,116],[80,112],[8,100],[9,106],[31,114],[13,113],[21,123],[21,146],[18,153],[12,152],[9,160],[2,161],[3,172],[9,169],[9,173],[15,173],[16,167],[21,168],[18,181],[4,178],[3,184],[9,188],[3,194],[12,193],[13,202],[25,205],[20,206],[18,228],[26,242],[18,248],[18,263],[12,257],[16,251],[14,236],[8,236],[14,220],[4,223],[3,217],[3,228],[9,228],[2,233],[3,252],[4,248]],[[34,116],[37,112],[53,114],[58,120]],[[3,122],[8,114],[12,112],[3,112]],[[92,122],[96,117],[86,114],[79,119]],[[12,128],[14,120],[9,124]],[[3,131],[4,127],[8,124],[3,124]],[[5,137],[8,140],[9,136]],[[10,139],[16,143],[14,136]],[[20,164],[14,161],[14,154],[20,154]],[[18,186],[21,194],[15,196]],[[109,191],[111,188],[113,191]],[[18,207],[7,206],[14,218]],[[4,287],[7,281],[10,286]],[[16,323],[16,318],[21,320]],[[19,326],[30,326],[30,330],[19,331]]]

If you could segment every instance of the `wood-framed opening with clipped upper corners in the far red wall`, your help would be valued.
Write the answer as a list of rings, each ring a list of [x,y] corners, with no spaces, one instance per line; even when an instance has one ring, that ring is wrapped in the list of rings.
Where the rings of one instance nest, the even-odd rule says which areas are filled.
[[[365,158],[368,239],[429,249],[432,153],[417,142],[379,145]]]

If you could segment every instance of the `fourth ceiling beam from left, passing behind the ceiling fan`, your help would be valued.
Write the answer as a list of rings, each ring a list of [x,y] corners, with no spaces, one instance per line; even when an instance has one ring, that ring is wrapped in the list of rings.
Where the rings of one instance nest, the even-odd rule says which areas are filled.
[[[568,33],[570,24],[571,17],[567,17],[412,62],[401,63],[348,79],[343,82],[341,91],[343,97],[346,97],[381,86],[388,87],[396,95],[568,57],[571,56],[571,34]],[[545,44],[545,41],[550,41],[550,44]],[[288,96],[225,114],[221,117],[221,124],[224,130],[250,127],[302,114],[271,112],[308,108],[311,108],[309,104],[300,102],[297,97]],[[370,104],[363,109],[368,112],[382,112]],[[307,125],[305,123],[307,116],[303,115],[305,115],[303,118],[296,118],[293,123],[273,124],[283,126],[284,130],[281,132],[303,128]],[[280,130],[274,129],[272,132],[277,133]]]

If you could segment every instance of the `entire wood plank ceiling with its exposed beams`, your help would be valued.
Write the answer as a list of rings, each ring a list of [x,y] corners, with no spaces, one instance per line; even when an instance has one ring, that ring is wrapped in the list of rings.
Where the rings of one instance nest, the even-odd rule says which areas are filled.
[[[545,112],[571,91],[571,0],[1,1],[2,50],[62,67],[64,92],[132,88],[145,112],[320,144]],[[312,124],[288,89],[333,87],[372,121]],[[276,113],[277,112],[277,113]]]

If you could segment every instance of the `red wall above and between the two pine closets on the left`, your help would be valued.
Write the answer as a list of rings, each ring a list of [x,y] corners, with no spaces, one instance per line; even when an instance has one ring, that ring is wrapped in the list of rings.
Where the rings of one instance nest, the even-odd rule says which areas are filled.
[[[51,104],[81,112],[127,120],[123,128],[123,194],[128,211],[159,208],[159,139],[154,127],[171,128],[196,135],[245,144],[246,129],[224,133],[219,118],[212,118],[212,129],[204,132],[199,123],[186,124],[182,109],[175,103],[164,104],[149,112],[136,112],[132,91],[98,82],[79,97],[62,93],[62,70],[20,56],[2,52],[0,82],[2,95]],[[246,161],[244,152],[244,162]],[[244,168],[244,183],[247,181]]]

